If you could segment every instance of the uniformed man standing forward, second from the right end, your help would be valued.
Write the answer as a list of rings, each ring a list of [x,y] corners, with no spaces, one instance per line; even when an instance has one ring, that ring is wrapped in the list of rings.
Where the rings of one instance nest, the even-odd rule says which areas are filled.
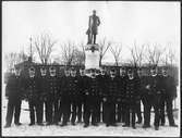
[[[159,129],[159,104],[161,100],[160,79],[157,74],[157,67],[151,67],[150,76],[147,78],[144,100],[144,126],[143,128],[150,127],[150,110],[154,106],[155,112],[155,129]]]

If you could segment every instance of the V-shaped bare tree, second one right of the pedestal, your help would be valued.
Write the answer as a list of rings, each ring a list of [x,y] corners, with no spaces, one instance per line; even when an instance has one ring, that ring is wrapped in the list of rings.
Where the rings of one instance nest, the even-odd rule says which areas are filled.
[[[121,55],[122,45],[110,47],[110,51],[114,58],[116,65],[119,66],[120,55]]]

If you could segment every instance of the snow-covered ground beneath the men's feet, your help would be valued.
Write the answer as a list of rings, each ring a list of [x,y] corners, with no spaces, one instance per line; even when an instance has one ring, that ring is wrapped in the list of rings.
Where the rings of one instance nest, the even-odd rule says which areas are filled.
[[[7,101],[7,100],[5,100]],[[5,105],[5,103],[3,104]],[[27,102],[23,102],[23,108],[27,108]],[[23,109],[22,108],[22,109]],[[153,137],[178,137],[179,127],[169,127],[168,120],[166,126],[155,130],[153,126],[154,114],[151,114],[151,128],[144,129],[141,125],[136,125],[136,129],[122,127],[122,123],[119,123],[118,127],[106,127],[105,124],[100,123],[99,126],[83,127],[82,124],[71,126],[70,124],[65,127],[60,126],[28,126],[29,124],[29,112],[22,110],[21,123],[22,126],[15,126],[12,124],[10,128],[3,128],[5,125],[7,108],[2,110],[2,136],[153,136]],[[179,125],[178,113],[174,113],[175,123]]]

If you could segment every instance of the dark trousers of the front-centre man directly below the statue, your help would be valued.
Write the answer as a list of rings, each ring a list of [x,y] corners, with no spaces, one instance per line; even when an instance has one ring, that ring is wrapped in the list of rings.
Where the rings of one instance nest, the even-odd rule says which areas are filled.
[[[85,101],[85,111],[84,111],[84,123],[86,125],[89,125],[89,120],[92,117],[92,124],[95,124],[97,121],[96,116],[97,116],[97,100],[94,99],[93,97],[88,97],[86,98]]]

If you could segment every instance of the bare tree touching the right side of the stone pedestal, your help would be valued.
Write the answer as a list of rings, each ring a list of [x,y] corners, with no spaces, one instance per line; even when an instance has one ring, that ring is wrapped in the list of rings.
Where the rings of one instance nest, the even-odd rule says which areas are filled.
[[[99,42],[99,66],[101,65],[101,60],[104,59],[106,52],[110,48],[111,42],[106,40],[106,37]]]

